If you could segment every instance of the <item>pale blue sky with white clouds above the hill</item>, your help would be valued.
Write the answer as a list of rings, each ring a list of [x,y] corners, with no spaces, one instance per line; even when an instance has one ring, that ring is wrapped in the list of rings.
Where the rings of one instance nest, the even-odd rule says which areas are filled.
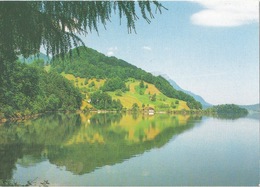
[[[86,46],[148,72],[167,74],[211,104],[259,103],[258,0],[161,1],[168,9],[148,24],[113,15]]]

